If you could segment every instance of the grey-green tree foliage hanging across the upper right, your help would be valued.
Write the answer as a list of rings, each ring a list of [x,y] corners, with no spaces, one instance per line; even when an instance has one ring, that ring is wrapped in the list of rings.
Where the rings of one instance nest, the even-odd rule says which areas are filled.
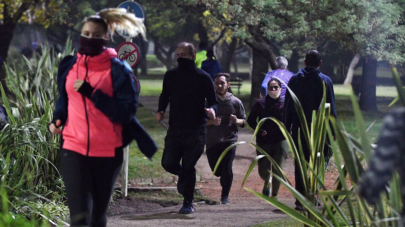
[[[204,8],[252,48],[290,57],[321,43],[377,60],[403,62],[404,3],[386,0],[178,0]]]

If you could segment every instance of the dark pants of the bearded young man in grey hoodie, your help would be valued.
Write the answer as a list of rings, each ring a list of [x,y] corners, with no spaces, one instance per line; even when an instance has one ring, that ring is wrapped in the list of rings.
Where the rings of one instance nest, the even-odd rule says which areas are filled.
[[[235,142],[229,143],[217,143],[210,148],[207,148],[205,153],[207,153],[207,159],[209,163],[209,167],[211,170],[214,171],[215,164],[217,164],[218,159],[220,158],[222,152],[229,147],[230,145],[234,144]],[[235,158],[236,147],[232,147],[226,156],[220,162],[220,165],[215,172],[215,176],[220,177],[220,183],[222,187],[221,196],[229,195],[230,187],[232,186],[233,180],[233,172],[232,172],[232,162]]]

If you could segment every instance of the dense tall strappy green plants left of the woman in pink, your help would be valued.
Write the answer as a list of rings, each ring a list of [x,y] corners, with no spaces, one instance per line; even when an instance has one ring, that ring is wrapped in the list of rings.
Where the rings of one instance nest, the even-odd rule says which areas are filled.
[[[64,223],[68,208],[59,172],[59,137],[49,133],[47,126],[57,98],[58,64],[70,52],[50,55],[45,46],[42,53],[24,60],[26,71],[7,66],[13,98],[6,98],[0,84],[10,121],[0,133],[0,211],[6,217],[9,212],[58,225]]]

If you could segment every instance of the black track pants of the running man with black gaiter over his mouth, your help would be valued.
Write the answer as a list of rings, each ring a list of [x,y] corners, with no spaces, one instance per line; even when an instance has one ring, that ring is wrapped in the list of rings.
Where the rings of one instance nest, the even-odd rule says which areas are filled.
[[[192,202],[194,199],[194,187],[196,186],[194,166],[204,152],[206,133],[205,127],[170,127],[164,138],[162,167],[167,172],[183,178],[183,197],[188,202]]]

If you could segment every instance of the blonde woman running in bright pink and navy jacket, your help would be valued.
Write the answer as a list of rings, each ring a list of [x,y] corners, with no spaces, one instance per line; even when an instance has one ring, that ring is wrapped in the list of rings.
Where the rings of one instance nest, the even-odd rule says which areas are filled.
[[[145,28],[122,8],[104,9],[82,25],[79,53],[62,59],[58,69],[60,97],[49,131],[62,133],[70,226],[104,227],[122,166],[123,125],[131,121],[137,105],[132,70],[104,45],[114,29],[136,35]]]

